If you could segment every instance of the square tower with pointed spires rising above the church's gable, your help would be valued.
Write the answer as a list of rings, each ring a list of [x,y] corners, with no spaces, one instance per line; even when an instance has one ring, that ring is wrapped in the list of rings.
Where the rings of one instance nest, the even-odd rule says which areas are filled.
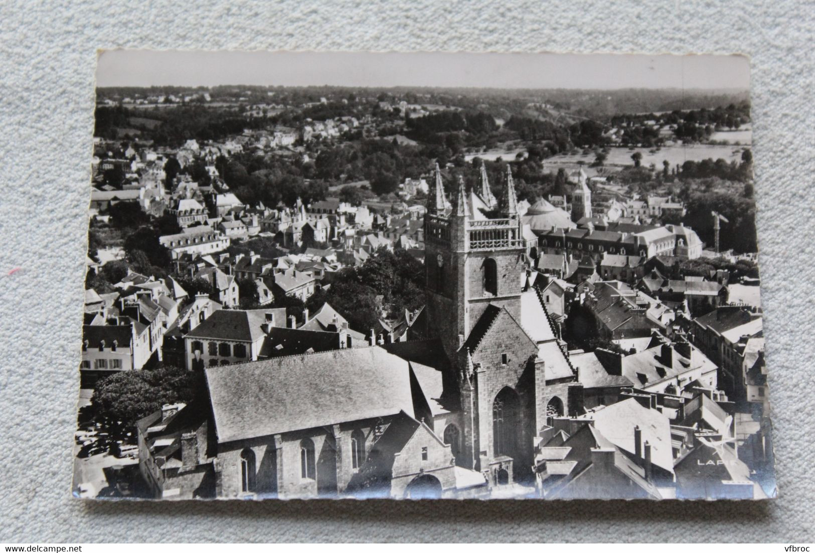
[[[435,326],[430,334],[442,339],[451,360],[491,303],[520,316],[525,250],[509,166],[497,204],[500,219],[475,219],[459,179],[451,205],[436,166],[425,215],[425,309]]]

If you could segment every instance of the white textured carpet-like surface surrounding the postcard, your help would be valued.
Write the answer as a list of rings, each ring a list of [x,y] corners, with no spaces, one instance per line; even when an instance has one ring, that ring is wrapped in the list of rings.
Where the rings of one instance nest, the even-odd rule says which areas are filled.
[[[813,532],[813,2],[0,2],[0,541],[795,541]],[[743,52],[774,502],[70,496],[97,48]]]

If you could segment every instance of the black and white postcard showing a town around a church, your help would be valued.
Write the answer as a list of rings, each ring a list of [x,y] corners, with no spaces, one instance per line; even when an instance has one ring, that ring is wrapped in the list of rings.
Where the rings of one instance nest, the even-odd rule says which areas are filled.
[[[73,494],[776,497],[751,126],[739,55],[101,52]]]

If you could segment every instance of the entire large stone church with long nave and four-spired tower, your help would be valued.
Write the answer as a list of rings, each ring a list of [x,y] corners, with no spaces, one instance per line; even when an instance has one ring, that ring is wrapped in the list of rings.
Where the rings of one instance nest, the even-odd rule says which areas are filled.
[[[207,396],[139,422],[160,498],[483,498],[534,493],[551,418],[582,412],[530,285],[513,178],[486,171],[425,215],[426,304],[406,342],[204,369]]]

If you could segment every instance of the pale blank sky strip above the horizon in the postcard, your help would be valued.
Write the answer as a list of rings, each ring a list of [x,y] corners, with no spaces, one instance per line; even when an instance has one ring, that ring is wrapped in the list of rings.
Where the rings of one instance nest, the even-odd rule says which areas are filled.
[[[108,50],[97,86],[750,88],[740,55]]]

